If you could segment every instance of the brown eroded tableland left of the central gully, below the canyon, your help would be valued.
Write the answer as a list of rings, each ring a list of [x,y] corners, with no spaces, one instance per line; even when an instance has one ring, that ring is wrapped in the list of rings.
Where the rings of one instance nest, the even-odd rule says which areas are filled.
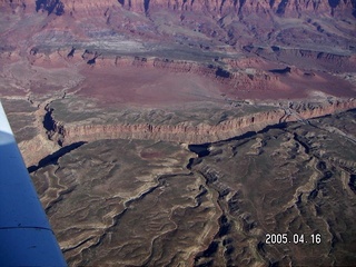
[[[162,265],[172,260],[164,251],[177,246],[176,260],[191,261],[220,216],[215,194],[185,168],[191,156],[165,142],[97,141],[33,172],[69,261]]]

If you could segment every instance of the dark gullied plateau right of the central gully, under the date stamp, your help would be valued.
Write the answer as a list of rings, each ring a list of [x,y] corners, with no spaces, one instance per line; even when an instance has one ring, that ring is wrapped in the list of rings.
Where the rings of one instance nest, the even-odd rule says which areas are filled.
[[[355,113],[344,122],[352,118]],[[352,218],[356,210],[350,205],[355,199],[355,167],[345,168],[329,160],[333,155],[339,162],[346,157],[355,162],[355,155],[343,152],[349,151],[346,147],[354,142],[313,126],[318,122],[329,127],[332,121],[310,120],[310,125],[290,125],[234,144],[211,146],[209,156],[192,164],[192,169],[204,174],[207,185],[219,192],[220,206],[225,207],[220,219],[222,238],[217,235],[211,250],[197,256],[197,266],[219,265],[221,259],[227,266],[355,263],[355,240],[350,238],[355,231]],[[342,122],[333,125],[342,127]],[[353,128],[350,125],[346,122],[345,128]],[[346,212],[342,206],[347,207]],[[336,222],[338,217],[344,218],[342,224]],[[291,244],[268,244],[267,234],[284,233]],[[317,234],[322,236],[319,244],[313,239]],[[301,235],[304,243],[298,239],[295,244],[293,237]],[[349,248],[344,250],[346,246]]]

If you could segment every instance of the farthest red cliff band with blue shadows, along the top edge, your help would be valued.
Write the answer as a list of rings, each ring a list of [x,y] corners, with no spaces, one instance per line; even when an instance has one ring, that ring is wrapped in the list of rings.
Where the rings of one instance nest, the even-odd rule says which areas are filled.
[[[211,14],[278,14],[300,16],[301,13],[328,13],[340,16],[345,11],[355,14],[354,0],[1,0],[0,7],[17,9],[18,7],[61,16],[65,12],[88,16],[103,14],[112,7],[121,6],[125,9],[139,13],[148,13],[162,9],[171,11],[208,12]],[[356,16],[356,14],[355,14]]]

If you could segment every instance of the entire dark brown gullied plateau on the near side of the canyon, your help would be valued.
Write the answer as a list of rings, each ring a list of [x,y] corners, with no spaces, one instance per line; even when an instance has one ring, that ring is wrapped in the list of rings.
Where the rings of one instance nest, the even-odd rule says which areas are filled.
[[[307,121],[202,145],[200,157],[93,141],[32,176],[72,266],[352,265],[355,112]]]

